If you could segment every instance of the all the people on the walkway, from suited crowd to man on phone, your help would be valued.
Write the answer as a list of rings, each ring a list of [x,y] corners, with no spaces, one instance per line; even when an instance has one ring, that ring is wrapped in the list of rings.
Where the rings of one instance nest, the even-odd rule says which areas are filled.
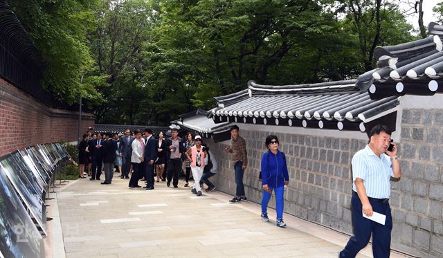
[[[355,257],[355,255],[368,243],[373,235],[373,252],[377,257],[388,257],[390,252],[390,232],[392,230],[392,216],[390,214],[389,196],[391,177],[399,178],[401,168],[397,158],[397,145],[391,143],[390,130],[377,125],[370,131],[368,145],[358,151],[352,158],[352,214],[354,221],[354,237],[350,238],[347,246],[339,253],[339,257]],[[246,201],[243,176],[248,166],[246,142],[239,136],[239,127],[234,125],[230,129],[230,146],[225,146],[224,151],[232,154],[235,174],[235,196],[230,203]],[[145,178],[147,190],[154,189],[154,170],[157,182],[167,181],[167,186],[178,187],[179,172],[183,161],[186,162],[186,184],[189,185],[190,174],[194,178],[191,192],[202,195],[201,184],[208,185],[207,192],[213,191],[215,185],[209,181],[217,173],[217,160],[203,142],[201,136],[186,134],[186,140],[178,136],[177,129],[172,129],[171,137],[164,138],[163,133],[154,139],[152,131],[145,129],[144,137],[141,131],[135,130],[131,136],[129,129],[125,136],[113,136],[101,133],[96,138],[89,139],[84,134],[79,145],[80,175],[84,166],[91,163],[90,180],[100,179],[102,163],[105,166],[105,182],[111,183],[114,161],[121,157],[121,178],[128,178],[132,167],[133,173],[129,187],[141,187],[138,181]],[[114,137],[114,140],[112,139]],[[276,223],[278,227],[286,226],[283,221],[284,191],[289,184],[289,172],[286,156],[279,149],[280,142],[275,135],[269,135],[265,140],[266,151],[261,158],[262,178],[262,212],[263,221],[269,221],[267,206],[272,192],[275,194]],[[212,158],[211,158],[212,157]],[[91,161],[91,162],[89,162]],[[167,176],[164,176],[166,171]],[[374,212],[386,216],[386,223],[367,219]]]

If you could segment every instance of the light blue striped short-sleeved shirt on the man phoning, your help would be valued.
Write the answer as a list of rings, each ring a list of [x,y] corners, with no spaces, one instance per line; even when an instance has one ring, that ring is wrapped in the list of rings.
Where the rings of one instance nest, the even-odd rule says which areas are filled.
[[[354,181],[356,178],[361,178],[368,197],[388,199],[391,176],[394,176],[394,172],[392,172],[390,157],[386,154],[378,157],[369,145],[357,151],[352,157],[352,190],[354,192],[357,192]]]

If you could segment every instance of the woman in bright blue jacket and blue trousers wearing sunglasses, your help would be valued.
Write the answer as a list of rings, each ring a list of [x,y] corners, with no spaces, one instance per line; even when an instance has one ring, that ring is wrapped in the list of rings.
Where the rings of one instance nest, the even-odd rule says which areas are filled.
[[[284,186],[289,183],[286,157],[282,151],[278,150],[277,136],[267,136],[264,143],[268,151],[262,155],[262,220],[269,221],[266,208],[268,207],[269,199],[271,199],[272,190],[274,190],[277,225],[278,227],[284,227],[286,223],[283,221],[283,192]]]

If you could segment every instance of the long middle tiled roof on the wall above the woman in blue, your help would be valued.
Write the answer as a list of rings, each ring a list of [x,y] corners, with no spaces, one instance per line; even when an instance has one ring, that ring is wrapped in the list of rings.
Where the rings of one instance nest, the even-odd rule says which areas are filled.
[[[365,131],[365,123],[397,111],[397,96],[371,100],[356,80],[299,85],[260,85],[217,97],[215,122],[244,122]],[[227,104],[228,103],[228,104]]]

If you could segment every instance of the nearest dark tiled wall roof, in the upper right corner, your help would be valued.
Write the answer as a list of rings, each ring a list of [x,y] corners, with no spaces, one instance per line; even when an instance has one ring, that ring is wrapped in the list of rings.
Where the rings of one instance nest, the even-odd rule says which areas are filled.
[[[431,22],[431,36],[396,46],[377,46],[377,68],[359,76],[356,85],[372,98],[387,95],[433,95],[443,92],[443,26]]]

